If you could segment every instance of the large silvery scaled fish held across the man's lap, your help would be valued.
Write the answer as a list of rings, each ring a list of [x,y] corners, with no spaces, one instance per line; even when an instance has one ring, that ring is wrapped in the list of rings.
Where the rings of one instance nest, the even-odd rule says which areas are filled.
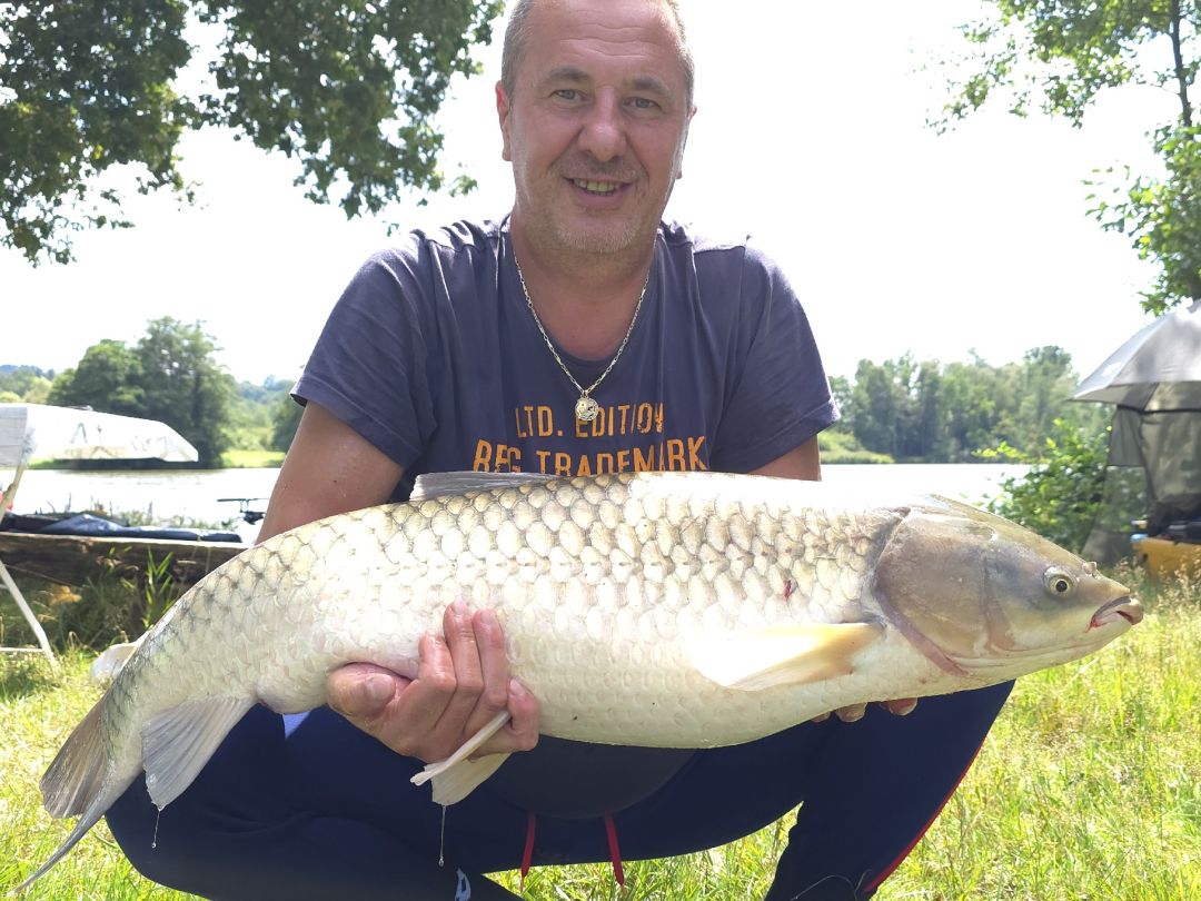
[[[665,747],[993,685],[1142,619],[1093,563],[937,496],[717,473],[424,477],[408,503],[279,535],[179,599],[42,777],[46,808],[80,819],[23,887],[143,771],[168,805],[251,705],[319,706],[351,661],[414,675],[456,599],[496,611],[544,734]],[[467,759],[476,744],[419,774],[436,800],[504,759]]]

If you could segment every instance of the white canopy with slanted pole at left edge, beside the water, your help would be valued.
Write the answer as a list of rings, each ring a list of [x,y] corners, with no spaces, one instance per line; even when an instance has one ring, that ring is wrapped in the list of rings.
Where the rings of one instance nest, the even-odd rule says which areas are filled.
[[[42,404],[0,404],[0,469],[16,469],[12,483],[7,489],[0,490],[0,515],[12,505],[20,485],[20,476],[34,458],[195,463],[197,453],[179,432],[155,419]],[[53,662],[54,654],[46,632],[2,560],[0,585],[12,595],[34,629],[42,652]]]

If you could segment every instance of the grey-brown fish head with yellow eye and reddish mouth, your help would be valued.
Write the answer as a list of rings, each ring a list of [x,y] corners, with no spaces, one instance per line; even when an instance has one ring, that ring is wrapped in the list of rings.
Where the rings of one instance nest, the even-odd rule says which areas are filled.
[[[1130,591],[1051,541],[944,499],[903,511],[877,561],[882,611],[940,668],[1004,681],[1142,620]]]

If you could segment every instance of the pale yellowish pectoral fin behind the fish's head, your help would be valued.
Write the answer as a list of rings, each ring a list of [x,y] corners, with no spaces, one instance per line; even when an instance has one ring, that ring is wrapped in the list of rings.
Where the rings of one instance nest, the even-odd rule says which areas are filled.
[[[754,692],[848,675],[855,655],[883,633],[876,622],[772,626],[697,642],[688,656],[705,678]]]

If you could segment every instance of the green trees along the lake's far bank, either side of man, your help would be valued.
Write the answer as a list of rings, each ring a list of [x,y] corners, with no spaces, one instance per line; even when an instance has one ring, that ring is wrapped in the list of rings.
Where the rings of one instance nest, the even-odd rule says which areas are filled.
[[[291,382],[235,383],[215,362],[216,345],[201,323],[161,318],[136,345],[106,339],[72,369],[50,375],[0,368],[0,393],[37,402],[162,419],[201,452],[201,465],[276,466],[292,443],[301,407]],[[831,378],[843,418],[818,436],[825,463],[963,463],[1038,454],[1060,418],[1087,434],[1104,431],[1097,404],[1066,400],[1076,383],[1059,347],[1028,351],[1021,363],[940,365],[910,356],[860,360],[854,380]],[[22,392],[26,392],[23,394]]]

